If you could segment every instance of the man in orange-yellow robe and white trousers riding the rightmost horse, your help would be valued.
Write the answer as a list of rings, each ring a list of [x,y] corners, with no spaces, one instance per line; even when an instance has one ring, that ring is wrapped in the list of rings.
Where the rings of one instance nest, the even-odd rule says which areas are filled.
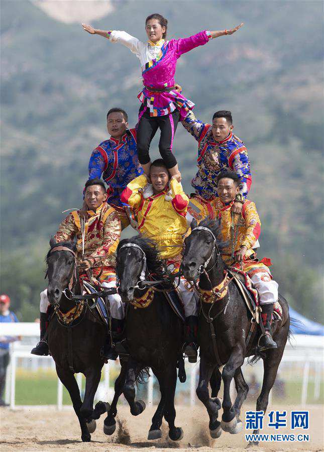
[[[240,214],[232,205],[240,191],[240,179],[233,171],[221,173],[217,179],[219,197],[211,201],[214,217],[221,220],[221,234],[229,245],[222,248],[222,258],[228,266],[240,268],[251,278],[258,291],[262,320],[266,334],[261,336],[259,350],[277,348],[270,334],[273,305],[278,300],[278,284],[272,279],[269,268],[256,259],[255,247],[261,232],[261,221],[254,202],[246,200]]]

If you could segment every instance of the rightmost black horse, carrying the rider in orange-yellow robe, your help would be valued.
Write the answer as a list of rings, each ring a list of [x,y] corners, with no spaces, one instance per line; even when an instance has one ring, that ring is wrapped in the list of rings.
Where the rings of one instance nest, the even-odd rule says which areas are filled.
[[[220,236],[220,222],[217,220],[207,218],[200,222],[199,227],[197,227],[195,220],[191,223],[191,234],[185,239],[181,269],[188,281],[196,281],[199,277],[199,290],[210,291],[211,288],[214,288],[216,293],[217,286],[222,285],[224,281],[226,266],[220,253],[222,248],[222,243],[218,241]],[[228,284],[227,294],[222,298],[220,295],[223,296],[224,292],[212,295],[213,304],[201,303],[198,328],[200,367],[196,393],[209,414],[209,430],[212,437],[219,437],[222,429],[231,433],[238,433],[243,427],[239,415],[249,387],[242,375],[241,366],[246,356],[255,354],[258,340],[255,329],[254,336],[252,335],[252,346],[247,351],[246,340],[250,331],[251,315],[236,283],[231,281]],[[267,350],[261,356],[264,376],[256,409],[264,412],[267,409],[269,392],[274,384],[278,366],[289,337],[288,304],[281,295],[279,295],[279,303],[282,307],[282,321],[274,322],[271,331],[278,348]],[[213,318],[211,324],[215,333],[216,350],[211,338],[212,328],[206,320],[208,317]],[[219,359],[217,359],[217,354]],[[219,370],[221,364],[225,365],[222,375]],[[230,384],[233,377],[238,396],[232,405]],[[221,404],[217,394],[222,378],[224,399],[222,422],[220,423],[217,418]],[[212,388],[211,398],[208,391],[209,381]],[[258,433],[258,430],[255,430],[254,433]]]

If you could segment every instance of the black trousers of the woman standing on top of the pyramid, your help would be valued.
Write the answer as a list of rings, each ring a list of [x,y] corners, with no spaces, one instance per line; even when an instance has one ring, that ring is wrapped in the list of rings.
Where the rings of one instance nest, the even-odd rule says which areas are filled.
[[[140,109],[140,114],[142,111],[143,108]],[[172,145],[179,118],[180,112],[177,109],[169,115],[154,117],[150,117],[150,111],[148,108],[144,111],[139,121],[137,130],[137,151],[138,159],[141,165],[145,165],[150,161],[150,144],[158,129],[161,131],[159,141],[159,151],[161,157],[163,158],[167,168],[173,168],[177,164],[177,161],[172,154]]]

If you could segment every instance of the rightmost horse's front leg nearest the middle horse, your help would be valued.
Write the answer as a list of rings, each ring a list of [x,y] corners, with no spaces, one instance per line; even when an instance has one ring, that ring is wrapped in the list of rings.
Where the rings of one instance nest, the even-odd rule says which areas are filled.
[[[217,420],[221,402],[218,398],[209,397],[208,383],[210,381],[212,395],[217,395],[221,386],[221,373],[214,371],[215,364],[207,363],[203,356],[200,356],[199,382],[196,389],[198,399],[204,404],[209,415],[209,433],[212,438],[219,438],[222,434],[221,422]],[[211,376],[213,378],[211,379]]]

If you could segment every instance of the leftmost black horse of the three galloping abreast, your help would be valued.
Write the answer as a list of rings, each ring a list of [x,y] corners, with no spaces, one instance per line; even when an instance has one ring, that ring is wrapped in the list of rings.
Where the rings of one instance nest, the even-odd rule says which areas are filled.
[[[69,298],[71,292],[81,294],[75,244],[56,243],[52,238],[50,246],[46,257],[47,296],[50,304],[55,306],[56,315],[52,316],[48,325],[48,346],[55,361],[57,375],[68,390],[79,419],[81,439],[90,441],[90,433],[96,427],[94,419],[98,419],[100,414],[110,408],[108,404],[98,402],[93,410],[93,399],[104,364],[100,350],[104,345],[106,327],[86,302],[76,304]],[[83,403],[74,378],[74,373],[79,372],[85,376]]]

